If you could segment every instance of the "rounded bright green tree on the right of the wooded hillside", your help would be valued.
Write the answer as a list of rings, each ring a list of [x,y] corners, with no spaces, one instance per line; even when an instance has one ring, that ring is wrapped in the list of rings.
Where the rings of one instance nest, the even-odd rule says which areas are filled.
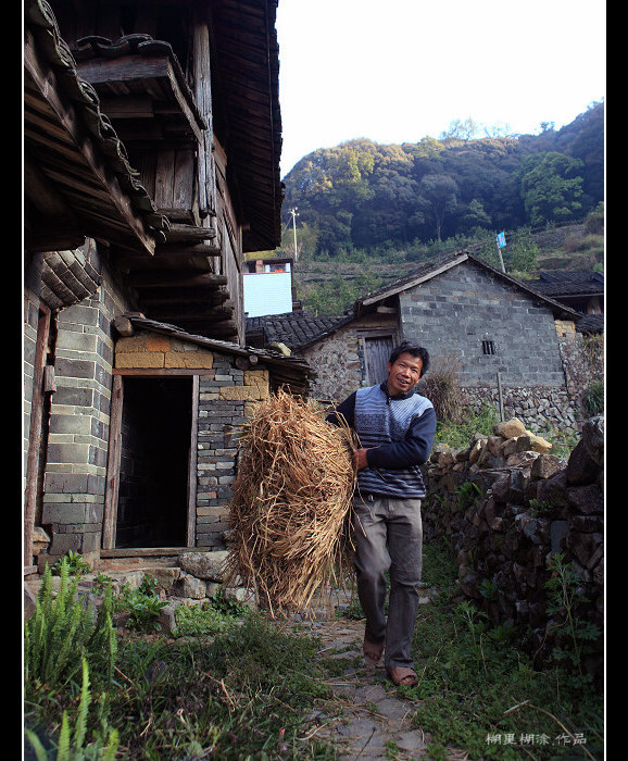
[[[564,153],[539,153],[522,165],[522,198],[532,227],[566,222],[582,209],[582,166]]]

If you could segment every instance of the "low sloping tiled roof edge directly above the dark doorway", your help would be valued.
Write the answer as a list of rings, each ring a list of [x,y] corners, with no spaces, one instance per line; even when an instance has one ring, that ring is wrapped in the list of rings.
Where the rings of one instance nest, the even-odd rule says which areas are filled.
[[[130,321],[134,329],[151,330],[165,336],[178,338],[189,341],[198,346],[202,346],[210,350],[219,351],[226,354],[236,354],[251,361],[252,364],[261,362],[266,365],[272,375],[272,386],[274,390],[281,385],[290,387],[296,394],[307,394],[309,380],[316,377],[316,372],[311,367],[306,360],[299,357],[286,357],[274,349],[258,349],[250,346],[240,346],[230,341],[223,341],[217,338],[208,338],[183,330],[176,325],[168,323],[156,322],[155,320],[147,320],[137,314],[124,314]]]

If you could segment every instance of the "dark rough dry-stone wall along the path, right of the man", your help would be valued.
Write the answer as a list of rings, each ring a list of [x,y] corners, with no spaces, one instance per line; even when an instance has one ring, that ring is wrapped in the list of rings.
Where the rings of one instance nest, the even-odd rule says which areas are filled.
[[[554,646],[569,646],[562,613],[548,611],[548,565],[557,552],[579,575],[588,602],[573,611],[603,631],[604,420],[585,424],[568,459],[550,453],[520,421],[476,436],[469,447],[437,446],[424,467],[426,541],[443,539],[459,565],[461,591],[493,626],[516,636],[544,663]],[[564,613],[564,611],[563,611]],[[589,643],[585,665],[600,676],[603,639]]]

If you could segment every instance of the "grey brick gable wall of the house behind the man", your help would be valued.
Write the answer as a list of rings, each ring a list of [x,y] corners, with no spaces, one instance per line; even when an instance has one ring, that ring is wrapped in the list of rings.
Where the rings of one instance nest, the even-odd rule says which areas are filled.
[[[549,308],[468,262],[400,294],[403,337],[425,346],[437,366],[456,357],[463,386],[565,387]],[[493,341],[494,354],[482,352]]]

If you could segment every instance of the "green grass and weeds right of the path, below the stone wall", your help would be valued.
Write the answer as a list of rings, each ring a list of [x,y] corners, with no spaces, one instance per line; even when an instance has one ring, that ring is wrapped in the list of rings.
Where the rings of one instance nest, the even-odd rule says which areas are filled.
[[[447,759],[449,746],[469,759],[601,759],[603,695],[590,679],[573,677],[581,650],[569,651],[565,668],[556,661],[535,670],[505,624],[491,626],[481,608],[461,597],[456,569],[444,547],[425,547],[425,584],[439,592],[419,610],[419,683],[403,689],[415,701],[413,723],[434,737],[430,758]],[[558,598],[574,594],[569,573]],[[485,591],[489,599],[489,584]],[[575,636],[580,643],[587,632]]]

